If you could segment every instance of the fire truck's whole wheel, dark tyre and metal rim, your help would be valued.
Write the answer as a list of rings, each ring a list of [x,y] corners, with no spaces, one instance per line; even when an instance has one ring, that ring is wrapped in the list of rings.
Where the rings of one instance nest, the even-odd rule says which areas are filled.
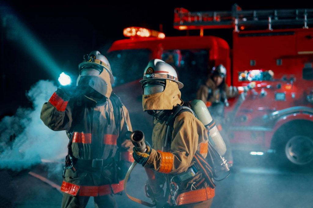
[[[313,124],[293,122],[278,130],[280,139],[276,143],[278,162],[281,165],[305,166],[313,161]],[[288,132],[288,133],[287,133]],[[278,136],[275,133],[276,136]]]

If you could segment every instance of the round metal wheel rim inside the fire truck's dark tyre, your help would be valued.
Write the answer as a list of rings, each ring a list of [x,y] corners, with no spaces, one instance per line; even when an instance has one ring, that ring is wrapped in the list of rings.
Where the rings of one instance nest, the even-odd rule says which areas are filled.
[[[313,140],[308,136],[294,136],[285,146],[289,161],[296,165],[306,165],[313,160]]]

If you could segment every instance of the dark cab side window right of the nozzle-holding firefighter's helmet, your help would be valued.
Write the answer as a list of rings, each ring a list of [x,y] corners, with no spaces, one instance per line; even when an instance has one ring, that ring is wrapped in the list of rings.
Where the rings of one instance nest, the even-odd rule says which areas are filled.
[[[195,99],[198,88],[208,78],[208,57],[208,51],[204,49],[163,51],[162,60],[176,70],[178,80],[184,84],[181,89],[183,100]]]

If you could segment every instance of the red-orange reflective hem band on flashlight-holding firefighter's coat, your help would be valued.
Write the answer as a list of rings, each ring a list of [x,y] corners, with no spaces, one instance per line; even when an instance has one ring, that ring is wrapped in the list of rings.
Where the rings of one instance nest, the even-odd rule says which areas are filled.
[[[106,184],[102,186],[78,186],[63,181],[61,191],[76,196],[104,196],[109,194],[117,194],[124,190],[124,180],[118,184]]]

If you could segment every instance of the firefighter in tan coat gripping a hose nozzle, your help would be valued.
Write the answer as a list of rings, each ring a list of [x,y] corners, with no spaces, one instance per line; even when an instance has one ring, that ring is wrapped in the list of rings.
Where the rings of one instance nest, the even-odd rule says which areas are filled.
[[[144,166],[156,207],[210,207],[215,195],[208,156],[208,133],[191,111],[182,107],[183,84],[174,68],[151,60],[140,81],[143,110],[154,116],[152,146],[143,153],[134,148],[134,159]],[[160,185],[166,183],[164,196]],[[167,205],[168,206],[168,205]]]

